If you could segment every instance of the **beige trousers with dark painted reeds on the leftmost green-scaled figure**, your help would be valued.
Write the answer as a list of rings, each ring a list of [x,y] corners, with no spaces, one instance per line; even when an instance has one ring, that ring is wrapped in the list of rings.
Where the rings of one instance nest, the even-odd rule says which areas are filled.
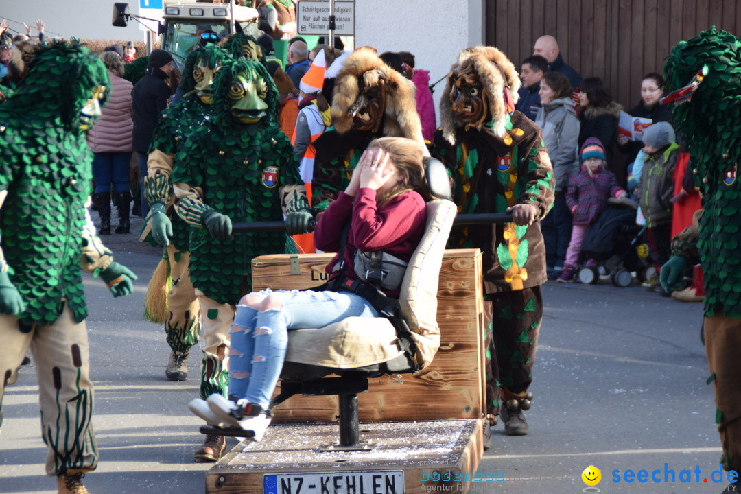
[[[93,383],[84,321],[76,323],[64,307],[53,324],[33,326],[29,333],[21,333],[18,322],[16,316],[0,315],[0,404],[30,348],[39,383],[47,475],[95,470],[98,448],[90,424]]]

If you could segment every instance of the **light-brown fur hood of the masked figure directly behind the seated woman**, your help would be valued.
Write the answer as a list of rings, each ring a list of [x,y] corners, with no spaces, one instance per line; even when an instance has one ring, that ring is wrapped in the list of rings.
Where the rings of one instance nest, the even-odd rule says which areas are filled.
[[[332,120],[337,132],[344,134],[353,127],[348,110],[359,96],[360,79],[367,86],[377,85],[379,81],[386,84],[383,136],[406,137],[424,146],[413,82],[383,63],[370,47],[350,53],[337,75],[332,98]]]

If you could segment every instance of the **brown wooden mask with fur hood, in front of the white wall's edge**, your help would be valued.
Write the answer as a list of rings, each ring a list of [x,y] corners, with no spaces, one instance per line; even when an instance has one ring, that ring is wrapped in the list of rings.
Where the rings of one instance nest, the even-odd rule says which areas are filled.
[[[480,129],[488,121],[494,122],[497,136],[504,136],[505,119],[514,110],[520,84],[514,64],[496,48],[463,50],[440,99],[443,136],[454,143],[456,124]]]

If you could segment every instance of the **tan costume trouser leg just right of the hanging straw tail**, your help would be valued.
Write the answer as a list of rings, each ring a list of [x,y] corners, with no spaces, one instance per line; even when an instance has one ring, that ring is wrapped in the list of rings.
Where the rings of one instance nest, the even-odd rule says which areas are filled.
[[[167,308],[170,316],[165,321],[167,344],[173,352],[187,353],[198,343],[201,330],[201,306],[196,298],[196,289],[190,282],[188,261],[190,253],[180,252],[170,244],[167,246],[167,260],[170,262],[170,276],[173,287],[167,293]]]

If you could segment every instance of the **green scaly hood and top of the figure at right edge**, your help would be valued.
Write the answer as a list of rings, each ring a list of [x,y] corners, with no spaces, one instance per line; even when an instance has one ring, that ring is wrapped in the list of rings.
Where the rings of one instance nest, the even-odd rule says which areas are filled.
[[[669,90],[685,86],[703,65],[708,75],[691,101],[672,107],[678,133],[686,139],[702,194],[697,248],[705,280],[705,316],[722,309],[741,318],[741,39],[711,28],[680,41],[668,57]]]

